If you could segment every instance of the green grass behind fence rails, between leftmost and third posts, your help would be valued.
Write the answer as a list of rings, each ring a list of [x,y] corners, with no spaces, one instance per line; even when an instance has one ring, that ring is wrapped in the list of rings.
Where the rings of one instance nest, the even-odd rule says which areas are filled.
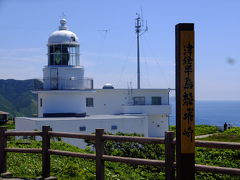
[[[30,144],[21,144],[25,140],[10,141],[8,147],[18,148],[41,148],[40,141],[28,140]],[[19,144],[20,143],[20,144]],[[63,142],[51,142],[53,149],[66,150],[72,152],[85,151],[75,146]],[[8,153],[8,167],[10,172],[17,177],[34,178],[41,176],[41,155],[40,154],[20,154]],[[84,168],[88,170],[88,176],[94,177],[94,162],[89,160],[80,160],[71,157],[51,156],[51,175],[58,176],[59,179],[81,177],[84,174]],[[91,168],[90,168],[91,167]],[[78,168],[78,171],[76,171]],[[68,172],[68,173],[67,173]],[[81,174],[79,174],[81,172]]]

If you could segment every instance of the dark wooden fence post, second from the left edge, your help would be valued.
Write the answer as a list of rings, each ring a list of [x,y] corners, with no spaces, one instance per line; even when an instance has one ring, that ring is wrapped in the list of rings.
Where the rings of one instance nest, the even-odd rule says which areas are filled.
[[[50,126],[42,127],[42,177],[47,178],[50,176],[50,136],[48,131],[51,131]]]

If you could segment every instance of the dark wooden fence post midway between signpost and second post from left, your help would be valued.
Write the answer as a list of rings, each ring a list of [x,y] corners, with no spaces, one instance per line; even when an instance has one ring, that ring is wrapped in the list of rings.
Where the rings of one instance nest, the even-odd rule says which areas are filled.
[[[102,139],[104,129],[96,129],[96,179],[104,180],[104,141]]]

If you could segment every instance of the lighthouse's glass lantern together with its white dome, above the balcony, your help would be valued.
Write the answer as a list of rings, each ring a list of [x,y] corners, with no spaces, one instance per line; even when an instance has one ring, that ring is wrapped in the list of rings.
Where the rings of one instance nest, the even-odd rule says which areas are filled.
[[[78,37],[60,20],[59,30],[48,39],[48,65],[79,66]]]

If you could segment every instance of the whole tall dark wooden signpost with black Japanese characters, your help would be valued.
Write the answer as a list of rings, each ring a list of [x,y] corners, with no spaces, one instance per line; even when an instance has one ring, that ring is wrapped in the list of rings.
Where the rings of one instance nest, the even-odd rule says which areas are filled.
[[[176,25],[177,179],[195,179],[194,24]]]

